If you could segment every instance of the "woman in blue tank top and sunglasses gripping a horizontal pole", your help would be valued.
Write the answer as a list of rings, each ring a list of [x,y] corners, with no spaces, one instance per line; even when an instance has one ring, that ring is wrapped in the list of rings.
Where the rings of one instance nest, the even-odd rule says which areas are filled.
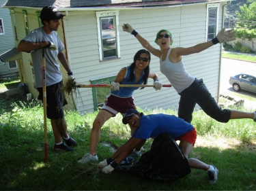
[[[154,89],[161,89],[162,84],[158,81],[158,75],[150,72],[150,59],[150,52],[145,49],[139,50],[134,55],[133,63],[117,73],[117,77],[111,84],[111,94],[94,120],[90,136],[90,152],[85,154],[78,161],[79,163],[98,161],[96,149],[100,141],[100,128],[107,120],[115,117],[119,112],[124,114],[127,109],[136,109],[132,94],[138,88],[119,88],[119,84],[147,84],[147,79],[150,77],[154,80]],[[132,133],[134,128],[130,126],[130,129]],[[140,148],[137,151],[139,150]]]

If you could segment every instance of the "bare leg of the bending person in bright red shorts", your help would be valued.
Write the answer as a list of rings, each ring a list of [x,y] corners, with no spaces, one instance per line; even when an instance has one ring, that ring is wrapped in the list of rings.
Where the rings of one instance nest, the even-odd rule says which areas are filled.
[[[193,144],[188,143],[187,141],[180,141],[179,145],[180,149],[182,150],[184,156],[188,159],[189,167],[193,169],[202,169],[207,171],[209,169],[209,164],[205,164],[196,158],[188,158],[188,155],[193,150]]]

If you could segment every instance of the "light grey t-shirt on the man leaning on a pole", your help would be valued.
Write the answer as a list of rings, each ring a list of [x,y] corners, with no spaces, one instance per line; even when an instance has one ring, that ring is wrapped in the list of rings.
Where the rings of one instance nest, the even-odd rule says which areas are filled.
[[[38,41],[51,41],[57,47],[57,50],[48,50],[45,48],[45,71],[46,71],[46,86],[51,86],[61,82],[62,75],[59,69],[58,54],[64,49],[63,43],[59,39],[57,33],[53,31],[51,34],[44,32],[42,27],[34,29],[23,40],[38,42]],[[31,58],[33,61],[33,71],[35,74],[35,86],[42,88],[42,48],[31,51]]]

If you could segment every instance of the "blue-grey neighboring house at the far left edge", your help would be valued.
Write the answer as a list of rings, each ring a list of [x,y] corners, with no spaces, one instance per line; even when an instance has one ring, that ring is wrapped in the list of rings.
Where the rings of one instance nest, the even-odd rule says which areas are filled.
[[[10,10],[1,7],[5,1],[6,0],[0,0],[0,55],[15,46]],[[5,78],[17,78],[18,76],[19,71],[16,60],[0,59],[0,80]]]

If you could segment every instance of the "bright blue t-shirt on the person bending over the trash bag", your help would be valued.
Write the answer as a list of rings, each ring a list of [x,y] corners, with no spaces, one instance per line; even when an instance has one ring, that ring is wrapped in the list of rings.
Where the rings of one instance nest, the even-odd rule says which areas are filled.
[[[132,133],[132,137],[137,139],[156,138],[161,133],[168,133],[176,139],[192,131],[194,127],[176,116],[167,114],[152,114],[142,116],[139,128],[136,128]]]

